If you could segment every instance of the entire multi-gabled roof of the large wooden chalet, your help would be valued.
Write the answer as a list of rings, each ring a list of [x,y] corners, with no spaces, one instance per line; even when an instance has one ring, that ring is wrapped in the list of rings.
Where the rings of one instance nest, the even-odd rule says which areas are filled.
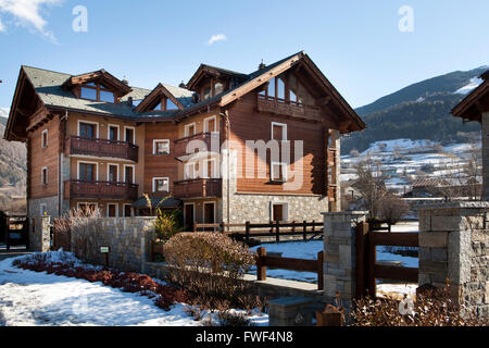
[[[86,112],[102,116],[126,119],[128,121],[179,121],[183,117],[198,112],[203,108],[224,108],[241,96],[265,84],[271,78],[292,69],[293,66],[300,66],[301,69],[304,69],[308,74],[313,76],[315,84],[319,86],[322,94],[327,97],[328,101],[330,100],[329,102],[335,105],[335,110],[343,115],[341,121],[344,124],[340,128],[341,132],[353,132],[365,128],[365,124],[359,117],[359,115],[353,111],[348,102],[340,96],[336,88],[329,83],[329,80],[323,75],[319,69],[317,69],[317,66],[312,62],[309,55],[303,51],[259,69],[248,75],[221,67],[201,64],[198,72],[193,74],[190,82],[198,74],[212,70],[213,72],[217,72],[220,74],[225,74],[226,76],[236,78],[235,82],[237,82],[237,84],[230,89],[221,92],[220,95],[211,97],[206,100],[199,101],[197,103],[192,102],[193,92],[187,88],[174,87],[164,84],[159,84],[153,90],[139,87],[129,87],[113,77],[104,70],[82,75],[71,75],[23,65],[21,67],[20,78],[21,76],[25,76],[25,78],[33,85],[42,104],[49,109]],[[109,103],[77,98],[71,90],[65,88],[73,84],[88,82],[92,78],[101,77],[103,77],[105,80],[111,80],[114,86],[118,85],[117,87],[123,87],[121,86],[122,84],[127,88],[125,90],[130,89],[130,91],[121,98],[120,103]],[[172,100],[180,109],[170,111],[141,111],[143,110],[143,103],[146,103],[145,100],[149,101],[151,97],[154,97],[155,95],[161,92],[168,98],[172,98]],[[17,90],[15,95],[17,95]],[[131,98],[133,100],[142,100],[142,107],[131,107],[131,104],[128,102],[129,98]],[[13,122],[11,119],[14,119],[12,116],[14,113],[14,109],[15,105],[12,104],[9,123]],[[10,128],[8,127],[8,129]]]

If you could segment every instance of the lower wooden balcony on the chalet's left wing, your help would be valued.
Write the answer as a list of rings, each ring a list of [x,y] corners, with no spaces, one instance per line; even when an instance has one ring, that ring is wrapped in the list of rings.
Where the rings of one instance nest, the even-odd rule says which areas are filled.
[[[138,185],[113,182],[64,182],[65,199],[136,200]]]

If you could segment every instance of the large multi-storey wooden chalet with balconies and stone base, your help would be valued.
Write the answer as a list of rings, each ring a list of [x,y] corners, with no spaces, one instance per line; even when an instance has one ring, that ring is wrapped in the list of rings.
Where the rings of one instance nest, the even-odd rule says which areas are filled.
[[[28,215],[79,207],[139,215],[148,194],[153,203],[171,196],[163,207],[181,207],[190,225],[319,220],[339,210],[339,138],[364,127],[299,52],[251,74],[202,64],[187,85],[152,90],[104,70],[70,75],[22,66],[4,138],[27,147]],[[304,140],[302,185],[285,188],[296,163],[253,152],[266,177],[247,178],[236,175],[242,151],[188,153],[192,139]]]

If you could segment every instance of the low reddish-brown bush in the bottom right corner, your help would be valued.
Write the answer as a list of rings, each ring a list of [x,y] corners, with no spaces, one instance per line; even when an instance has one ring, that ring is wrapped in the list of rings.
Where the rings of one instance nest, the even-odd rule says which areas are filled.
[[[401,314],[400,301],[371,297],[354,300],[354,326],[487,326],[487,319],[477,318],[475,311],[457,306],[450,288],[429,289],[418,294],[413,313]]]

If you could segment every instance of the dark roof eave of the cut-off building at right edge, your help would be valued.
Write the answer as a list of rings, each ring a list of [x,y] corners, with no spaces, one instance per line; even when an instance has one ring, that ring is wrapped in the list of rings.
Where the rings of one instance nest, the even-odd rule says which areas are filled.
[[[482,112],[489,112],[489,70],[479,77],[484,82],[452,109],[453,116],[481,122]]]

